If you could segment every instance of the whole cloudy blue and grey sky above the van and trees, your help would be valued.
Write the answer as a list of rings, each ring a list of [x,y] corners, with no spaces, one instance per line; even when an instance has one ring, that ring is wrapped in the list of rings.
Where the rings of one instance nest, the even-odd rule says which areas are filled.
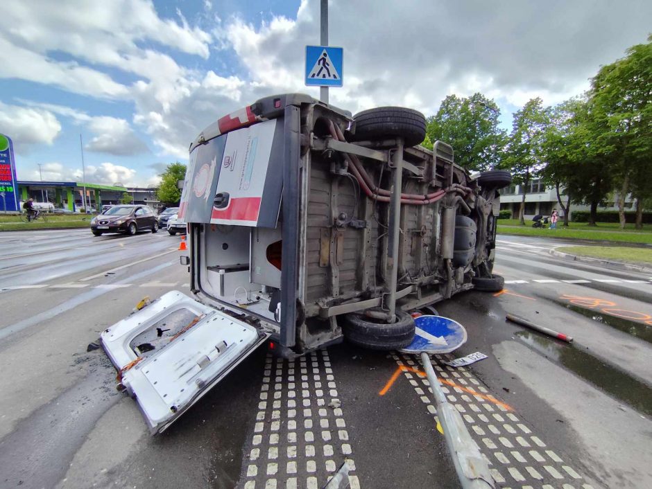
[[[501,122],[529,98],[551,105],[601,64],[646,42],[649,0],[332,0],[329,41],[345,49],[352,112],[404,105],[432,115],[481,91]],[[220,116],[302,91],[319,0],[6,0],[0,132],[19,179],[148,185]]]

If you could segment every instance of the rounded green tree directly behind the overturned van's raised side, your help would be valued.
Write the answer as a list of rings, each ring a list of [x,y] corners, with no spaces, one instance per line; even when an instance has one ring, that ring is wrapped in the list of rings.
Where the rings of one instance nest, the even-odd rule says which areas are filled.
[[[468,98],[447,96],[428,120],[430,141],[452,145],[455,162],[467,170],[488,170],[499,165],[505,132],[498,128],[500,111],[482,94]]]

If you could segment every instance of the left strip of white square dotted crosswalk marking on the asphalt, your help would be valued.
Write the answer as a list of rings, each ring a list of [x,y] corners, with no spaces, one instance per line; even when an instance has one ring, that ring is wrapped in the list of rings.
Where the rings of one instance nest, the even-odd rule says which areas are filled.
[[[327,350],[291,360],[268,355],[259,396],[238,487],[320,488],[344,462],[350,486],[360,487]]]

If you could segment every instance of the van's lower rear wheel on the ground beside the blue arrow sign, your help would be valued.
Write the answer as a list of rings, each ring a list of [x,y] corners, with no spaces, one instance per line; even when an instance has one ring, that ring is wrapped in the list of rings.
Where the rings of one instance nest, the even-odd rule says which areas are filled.
[[[347,314],[344,337],[352,344],[370,350],[398,350],[411,344],[414,320],[407,312],[397,311],[393,324],[380,323],[362,314]]]

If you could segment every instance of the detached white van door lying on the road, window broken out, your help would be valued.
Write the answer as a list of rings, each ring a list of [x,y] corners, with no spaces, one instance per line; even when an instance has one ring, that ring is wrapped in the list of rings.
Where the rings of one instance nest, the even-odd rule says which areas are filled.
[[[161,433],[268,337],[248,323],[168,292],[101,334],[152,434]]]

